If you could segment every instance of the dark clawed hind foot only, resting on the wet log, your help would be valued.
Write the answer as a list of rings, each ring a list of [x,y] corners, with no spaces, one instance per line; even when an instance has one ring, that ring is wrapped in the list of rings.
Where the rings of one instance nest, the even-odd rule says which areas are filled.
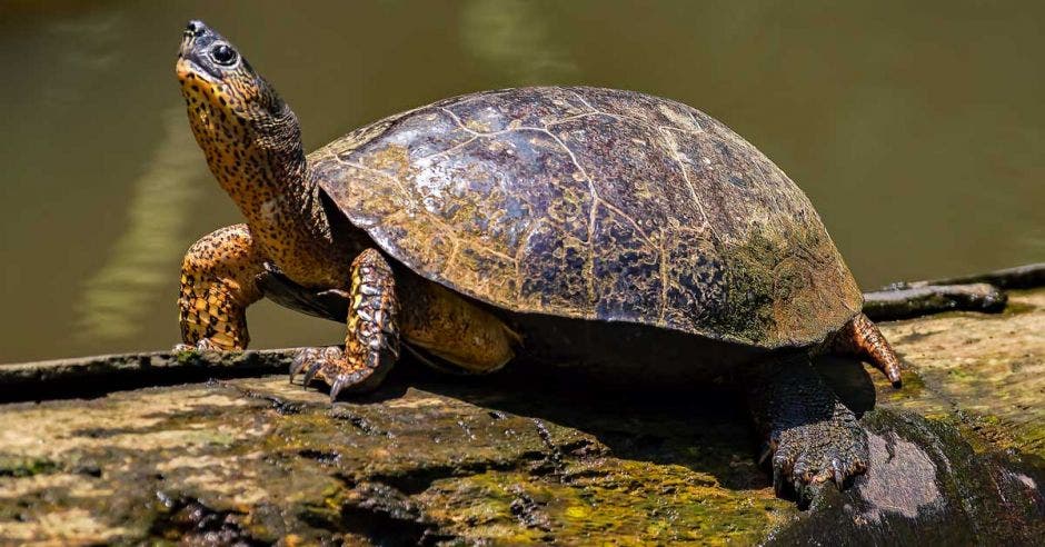
[[[773,488],[777,496],[794,491],[800,505],[808,504],[820,485],[832,481],[839,489],[867,469],[867,434],[853,412],[837,404],[834,415],[777,430],[763,451],[772,455]]]

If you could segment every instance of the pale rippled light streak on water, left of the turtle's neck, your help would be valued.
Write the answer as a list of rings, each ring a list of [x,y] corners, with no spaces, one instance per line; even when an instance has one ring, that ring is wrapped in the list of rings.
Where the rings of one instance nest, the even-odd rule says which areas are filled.
[[[185,109],[163,112],[163,138],[145,159],[146,171],[131,189],[127,229],[112,245],[104,265],[84,284],[76,305],[76,337],[94,341],[140,335],[147,306],[160,288],[170,287],[185,252],[185,233],[206,171]],[[171,300],[173,296],[171,296]],[[176,312],[166,310],[171,320]]]

